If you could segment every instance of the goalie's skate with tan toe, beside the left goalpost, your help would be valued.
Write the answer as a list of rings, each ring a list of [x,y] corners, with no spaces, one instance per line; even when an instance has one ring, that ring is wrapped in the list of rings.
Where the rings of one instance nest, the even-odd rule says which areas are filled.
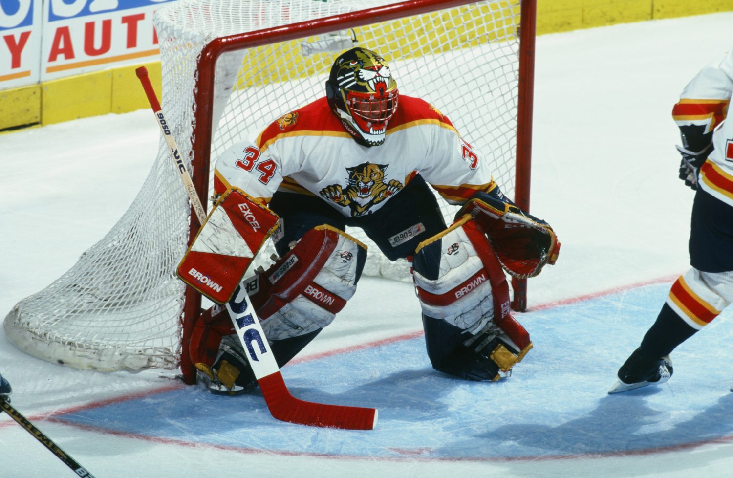
[[[218,357],[211,367],[205,364],[196,364],[196,367],[199,369],[199,379],[213,394],[237,395],[257,385],[257,379],[235,335],[221,339]]]

